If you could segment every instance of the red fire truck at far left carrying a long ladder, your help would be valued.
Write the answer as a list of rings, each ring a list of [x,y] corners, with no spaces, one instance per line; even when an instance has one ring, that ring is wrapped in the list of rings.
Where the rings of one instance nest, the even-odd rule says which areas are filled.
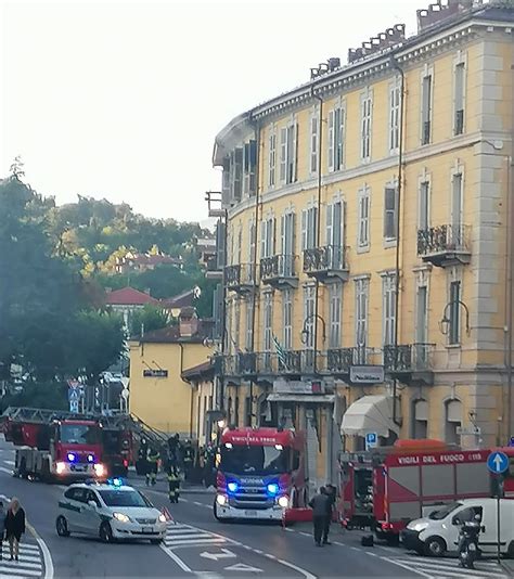
[[[17,447],[18,476],[50,481],[106,475],[98,420],[30,408],[10,408],[2,419],[5,440]]]

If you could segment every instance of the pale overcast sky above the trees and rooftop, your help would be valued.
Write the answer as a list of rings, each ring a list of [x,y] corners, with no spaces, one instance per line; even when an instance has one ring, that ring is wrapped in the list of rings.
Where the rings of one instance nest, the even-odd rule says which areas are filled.
[[[216,133],[428,0],[0,0],[0,173],[57,203],[207,217]]]

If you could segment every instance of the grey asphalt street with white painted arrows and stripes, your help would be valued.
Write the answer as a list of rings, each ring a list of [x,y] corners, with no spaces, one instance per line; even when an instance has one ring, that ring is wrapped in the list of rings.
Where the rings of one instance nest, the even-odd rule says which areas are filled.
[[[20,563],[0,564],[1,577],[216,577],[329,578],[329,577],[506,577],[493,561],[481,561],[474,571],[458,567],[452,558],[428,559],[402,549],[363,548],[361,532],[332,527],[332,545],[316,549],[310,527],[282,529],[269,524],[220,524],[211,514],[213,494],[187,492],[170,505],[164,483],[147,489],[133,476],[158,507],[167,506],[170,524],[165,544],[103,544],[77,536],[57,537],[56,504],[64,487],[13,478],[14,451],[0,442],[0,494],[17,497],[29,527],[23,539]],[[9,558],[9,557],[8,557]]]

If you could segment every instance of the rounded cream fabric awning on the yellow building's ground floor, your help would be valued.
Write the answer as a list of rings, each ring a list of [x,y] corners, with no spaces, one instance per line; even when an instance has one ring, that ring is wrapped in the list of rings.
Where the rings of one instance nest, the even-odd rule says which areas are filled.
[[[365,436],[376,433],[388,437],[389,430],[399,434],[400,428],[393,422],[391,396],[363,396],[355,401],[343,416],[342,435]]]

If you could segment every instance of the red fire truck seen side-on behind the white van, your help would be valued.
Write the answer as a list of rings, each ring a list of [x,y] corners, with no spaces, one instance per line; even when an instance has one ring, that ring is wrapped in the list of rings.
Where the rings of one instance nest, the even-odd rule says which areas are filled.
[[[393,448],[342,453],[340,522],[347,528],[370,527],[380,539],[398,541],[399,532],[437,505],[455,499],[490,497],[496,484],[487,469],[492,449],[445,448],[433,440],[402,440]],[[514,496],[514,448],[505,497]]]

